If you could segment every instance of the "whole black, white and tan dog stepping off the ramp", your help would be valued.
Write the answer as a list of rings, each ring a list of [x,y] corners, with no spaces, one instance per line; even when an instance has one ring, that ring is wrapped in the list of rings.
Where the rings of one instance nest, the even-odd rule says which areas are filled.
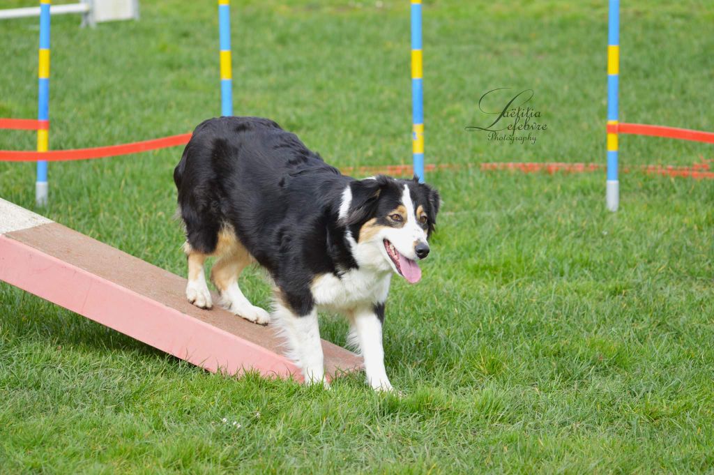
[[[306,381],[323,381],[318,309],[345,314],[368,383],[391,389],[382,323],[392,272],[412,284],[429,254],[439,195],[415,180],[343,176],[268,119],[221,117],[193,131],[174,170],[186,224],[186,296],[210,309],[203,263],[221,305],[258,324],[273,321]],[[271,314],[238,287],[257,262],[272,277]],[[324,381],[323,381],[324,382]]]

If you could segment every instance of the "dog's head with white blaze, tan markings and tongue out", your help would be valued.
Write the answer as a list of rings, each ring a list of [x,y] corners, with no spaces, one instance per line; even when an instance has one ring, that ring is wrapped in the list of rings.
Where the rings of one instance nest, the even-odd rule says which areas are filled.
[[[415,178],[379,175],[353,181],[342,196],[340,219],[348,227],[361,266],[389,269],[414,284],[421,279],[418,260],[429,254],[436,225],[438,192]]]

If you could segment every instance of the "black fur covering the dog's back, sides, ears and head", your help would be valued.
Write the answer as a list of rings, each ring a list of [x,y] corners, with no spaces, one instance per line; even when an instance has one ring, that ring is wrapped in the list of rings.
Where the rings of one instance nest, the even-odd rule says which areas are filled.
[[[296,135],[256,117],[221,117],[198,125],[174,170],[174,182],[193,249],[211,254],[218,231],[230,224],[299,315],[313,309],[315,276],[340,276],[358,266],[346,227],[358,239],[361,226],[394,209],[408,184],[415,206],[421,204],[430,216],[425,229],[431,234],[439,202],[435,190],[416,180],[344,176]],[[353,201],[340,221],[348,185]]]

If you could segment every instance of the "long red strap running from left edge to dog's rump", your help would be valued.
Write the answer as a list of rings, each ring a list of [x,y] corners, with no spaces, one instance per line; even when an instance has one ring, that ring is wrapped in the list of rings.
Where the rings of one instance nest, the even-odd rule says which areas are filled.
[[[132,142],[131,144],[94,147],[91,149],[54,150],[54,151],[14,151],[0,150],[0,161],[66,161],[101,159],[106,156],[137,154],[142,151],[165,149],[166,147],[185,145],[191,134],[172,135],[161,139]]]

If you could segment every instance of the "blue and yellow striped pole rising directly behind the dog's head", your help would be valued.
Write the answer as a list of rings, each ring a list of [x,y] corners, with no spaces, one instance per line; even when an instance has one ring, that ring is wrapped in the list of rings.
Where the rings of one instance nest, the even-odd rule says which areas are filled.
[[[411,0],[411,144],[414,174],[424,181],[424,96],[421,54],[421,0]]]

